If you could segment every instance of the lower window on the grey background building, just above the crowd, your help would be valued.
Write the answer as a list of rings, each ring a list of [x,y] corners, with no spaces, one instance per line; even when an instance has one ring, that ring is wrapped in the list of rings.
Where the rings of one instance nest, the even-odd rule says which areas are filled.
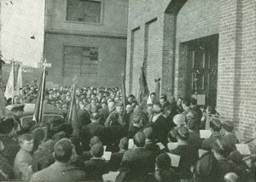
[[[65,46],[62,75],[94,77],[98,68],[98,48]]]

